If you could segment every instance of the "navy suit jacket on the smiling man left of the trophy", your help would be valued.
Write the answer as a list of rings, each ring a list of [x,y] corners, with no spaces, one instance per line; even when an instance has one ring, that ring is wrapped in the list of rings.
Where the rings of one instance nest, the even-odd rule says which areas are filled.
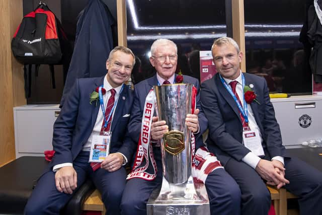
[[[90,104],[90,94],[103,85],[104,77],[76,79],[61,112],[54,123],[53,149],[55,155],[48,168],[61,163],[72,163],[83,149],[94,128],[100,103]],[[111,124],[112,139],[110,153],[120,152],[128,161],[132,150],[123,144],[129,114],[133,103],[133,92],[124,86],[116,106]]]

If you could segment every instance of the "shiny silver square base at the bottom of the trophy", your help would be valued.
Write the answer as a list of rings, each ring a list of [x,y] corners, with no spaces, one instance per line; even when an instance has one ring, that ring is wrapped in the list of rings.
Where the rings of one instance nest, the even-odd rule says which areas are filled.
[[[206,187],[192,178],[181,185],[163,179],[162,188],[153,190],[146,204],[147,215],[210,215]]]

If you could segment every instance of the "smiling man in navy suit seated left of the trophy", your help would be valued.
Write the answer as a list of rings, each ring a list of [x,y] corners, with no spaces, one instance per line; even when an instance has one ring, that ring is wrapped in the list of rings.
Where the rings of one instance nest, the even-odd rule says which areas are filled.
[[[106,214],[120,213],[126,183],[124,165],[133,152],[132,146],[123,144],[133,103],[132,90],[124,82],[130,77],[134,63],[132,51],[117,46],[106,61],[108,73],[105,77],[76,80],[54,124],[55,155],[32,192],[25,208],[27,215],[59,214],[87,177],[100,190]],[[106,92],[103,101],[90,104],[90,94],[100,86],[105,89],[101,90],[102,95]],[[109,102],[112,97],[114,101]],[[109,103],[113,108],[108,119],[102,107],[107,112],[106,104]],[[92,137],[109,131],[110,154],[95,170],[89,163]]]

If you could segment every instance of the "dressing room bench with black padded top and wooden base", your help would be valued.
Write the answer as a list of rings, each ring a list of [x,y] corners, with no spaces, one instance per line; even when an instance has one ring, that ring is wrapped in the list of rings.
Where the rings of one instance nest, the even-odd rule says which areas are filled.
[[[322,148],[287,149],[287,152],[322,171]],[[44,157],[24,156],[0,167],[0,214],[23,214],[24,207],[43,173],[47,161]],[[297,198],[284,188],[267,186],[276,215],[287,215],[287,199]],[[83,210],[105,214],[101,194],[91,180],[87,180],[73,195],[61,214],[82,214]]]

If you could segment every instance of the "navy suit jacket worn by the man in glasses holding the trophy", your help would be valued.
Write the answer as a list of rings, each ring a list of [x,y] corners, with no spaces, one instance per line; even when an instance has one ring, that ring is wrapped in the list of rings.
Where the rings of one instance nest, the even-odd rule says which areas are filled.
[[[190,76],[183,76],[183,77],[184,77],[183,78],[184,83],[193,84],[198,90],[198,94],[196,98],[196,101],[197,101],[196,108],[199,108],[200,110],[198,114],[200,130],[199,130],[199,133],[196,135],[196,150],[197,150],[199,147],[204,146],[202,141],[202,133],[207,129],[207,119],[201,109],[199,81]],[[132,144],[135,145],[135,148],[137,147],[137,143],[140,136],[145,98],[153,86],[157,86],[156,75],[154,75],[149,79],[141,81],[140,83],[136,84],[134,87],[134,102],[133,102],[133,108],[131,111],[131,118],[128,125],[128,131],[129,131],[129,136],[132,139]]]

